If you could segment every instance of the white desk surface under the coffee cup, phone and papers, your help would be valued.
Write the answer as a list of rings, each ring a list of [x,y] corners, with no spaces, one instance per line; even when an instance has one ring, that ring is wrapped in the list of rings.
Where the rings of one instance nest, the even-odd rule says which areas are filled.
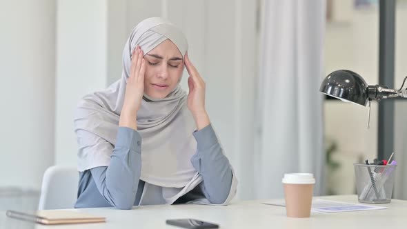
[[[357,203],[355,195],[321,197],[336,201]],[[37,229],[79,229],[79,228],[175,228],[166,225],[166,219],[194,218],[218,223],[220,228],[407,228],[407,201],[393,199],[391,203],[381,204],[385,210],[360,212],[317,213],[312,212],[308,219],[286,217],[286,209],[279,206],[261,204],[264,200],[235,201],[229,206],[141,206],[132,210],[113,208],[86,208],[77,211],[107,218],[106,223],[90,223],[64,226],[41,226]],[[1,216],[2,215],[2,216]],[[6,219],[4,212],[3,226],[12,225],[15,219]],[[1,221],[1,220],[0,220]],[[11,224],[10,224],[11,223]],[[387,225],[387,226],[386,226]]]

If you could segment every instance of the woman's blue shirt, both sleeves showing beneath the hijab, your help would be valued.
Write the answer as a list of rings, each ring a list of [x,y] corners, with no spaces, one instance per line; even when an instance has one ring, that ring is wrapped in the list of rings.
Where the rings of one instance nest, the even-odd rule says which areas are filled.
[[[81,130],[86,132],[86,130]],[[83,135],[85,134],[85,135]],[[81,136],[92,135],[90,132]],[[206,198],[210,203],[224,203],[232,184],[232,168],[212,126],[192,133],[197,151],[190,159],[203,181],[175,203]],[[119,127],[110,165],[79,172],[78,199],[75,208],[115,207],[131,209],[140,204],[161,204],[159,186],[149,184],[148,200],[141,203],[146,182],[141,175],[141,135],[136,130]],[[92,147],[92,146],[89,146]]]

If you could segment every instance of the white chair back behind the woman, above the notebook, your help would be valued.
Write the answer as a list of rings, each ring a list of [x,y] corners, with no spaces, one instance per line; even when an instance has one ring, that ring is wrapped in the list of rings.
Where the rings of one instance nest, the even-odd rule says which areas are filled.
[[[51,166],[44,172],[39,210],[74,208],[79,173],[75,167]]]

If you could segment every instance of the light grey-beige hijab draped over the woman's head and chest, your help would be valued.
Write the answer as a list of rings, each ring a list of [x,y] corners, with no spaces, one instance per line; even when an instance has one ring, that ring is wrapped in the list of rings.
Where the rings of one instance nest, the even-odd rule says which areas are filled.
[[[121,79],[106,90],[83,97],[75,112],[75,132],[86,130],[115,145],[132,50],[139,45],[147,54],[166,39],[175,43],[182,55],[186,54],[186,37],[165,19],[149,18],[132,30],[123,50]],[[186,107],[186,99],[186,92],[179,86],[165,99],[144,95],[137,114],[138,131],[143,139],[141,180],[156,186],[181,188],[197,175],[190,162],[197,149],[192,136],[196,126]],[[108,166],[111,150],[100,151],[87,150],[78,155],[79,171]]]

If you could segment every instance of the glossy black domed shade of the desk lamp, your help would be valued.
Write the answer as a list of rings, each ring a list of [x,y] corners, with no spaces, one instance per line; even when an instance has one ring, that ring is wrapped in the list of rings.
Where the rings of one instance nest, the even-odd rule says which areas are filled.
[[[368,103],[368,84],[359,74],[350,70],[337,70],[328,74],[319,91],[361,106]]]

